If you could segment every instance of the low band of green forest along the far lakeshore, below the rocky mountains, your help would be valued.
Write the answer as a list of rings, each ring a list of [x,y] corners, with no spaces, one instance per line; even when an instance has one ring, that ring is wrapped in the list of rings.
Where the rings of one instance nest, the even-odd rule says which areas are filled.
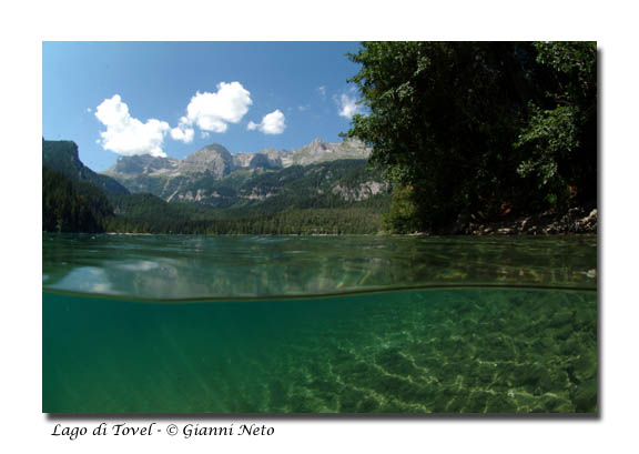
[[[73,182],[47,168],[42,173],[42,230],[48,232],[363,234],[381,230],[381,213],[388,208],[382,194],[349,203],[304,203],[301,196],[288,205],[212,209],[168,203],[148,193],[106,195],[92,183]]]

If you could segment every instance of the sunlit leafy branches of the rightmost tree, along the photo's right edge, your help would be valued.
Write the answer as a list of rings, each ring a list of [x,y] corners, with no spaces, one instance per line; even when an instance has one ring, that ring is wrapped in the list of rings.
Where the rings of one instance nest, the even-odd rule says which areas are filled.
[[[535,48],[551,82],[541,105],[528,105],[529,121],[515,143],[525,157],[517,171],[535,180],[539,195],[566,208],[576,195],[597,196],[597,50],[588,42]]]

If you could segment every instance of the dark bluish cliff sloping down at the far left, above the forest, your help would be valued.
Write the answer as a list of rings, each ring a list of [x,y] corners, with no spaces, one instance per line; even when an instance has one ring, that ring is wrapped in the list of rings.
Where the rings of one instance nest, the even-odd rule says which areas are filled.
[[[84,165],[78,155],[75,142],[42,139],[42,167],[55,170],[72,181],[89,181],[106,192],[129,193],[129,190],[114,179],[98,174]]]

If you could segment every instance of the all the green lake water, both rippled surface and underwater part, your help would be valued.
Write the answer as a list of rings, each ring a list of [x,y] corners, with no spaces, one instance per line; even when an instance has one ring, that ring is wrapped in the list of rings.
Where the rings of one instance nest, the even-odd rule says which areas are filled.
[[[594,238],[44,235],[43,412],[596,412],[596,265]]]

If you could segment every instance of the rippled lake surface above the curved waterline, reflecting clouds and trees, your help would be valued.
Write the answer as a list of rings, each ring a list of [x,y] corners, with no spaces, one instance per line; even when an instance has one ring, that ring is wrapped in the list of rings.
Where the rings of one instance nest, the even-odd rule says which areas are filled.
[[[597,286],[597,240],[44,235],[44,289],[146,299],[291,296],[425,285]]]

